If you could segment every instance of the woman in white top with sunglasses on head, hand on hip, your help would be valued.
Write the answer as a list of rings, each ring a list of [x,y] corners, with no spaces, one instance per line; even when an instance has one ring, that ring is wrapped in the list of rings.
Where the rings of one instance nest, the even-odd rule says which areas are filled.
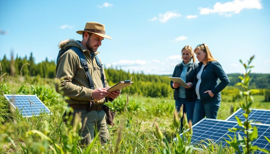
[[[227,74],[220,63],[214,59],[205,43],[198,45],[194,53],[200,63],[193,85],[195,87],[193,125],[205,116],[211,119],[217,118],[221,102],[220,91],[230,83]]]

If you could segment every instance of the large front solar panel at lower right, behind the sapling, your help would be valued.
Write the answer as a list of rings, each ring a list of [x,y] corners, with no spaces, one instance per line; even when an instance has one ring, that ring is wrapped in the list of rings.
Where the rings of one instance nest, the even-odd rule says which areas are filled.
[[[252,142],[252,146],[257,145],[259,148],[270,150],[270,143],[264,138],[264,136],[270,138],[270,125],[255,123],[252,123],[252,125],[257,126],[258,129],[258,138]],[[228,128],[240,128],[240,126],[238,126],[238,123],[235,121],[204,118],[197,124],[192,126],[193,135],[191,139],[191,144],[204,144],[207,146],[207,143],[201,141],[210,139],[218,145],[222,141],[222,146],[225,147],[227,145],[227,142],[224,140],[224,138],[230,141],[230,138],[227,136],[227,134],[230,135],[232,138],[234,137],[234,132],[229,132]],[[238,132],[236,132],[236,135]],[[239,134],[241,136],[245,136],[243,132],[239,132]],[[257,151],[257,154],[263,153],[264,152]]]

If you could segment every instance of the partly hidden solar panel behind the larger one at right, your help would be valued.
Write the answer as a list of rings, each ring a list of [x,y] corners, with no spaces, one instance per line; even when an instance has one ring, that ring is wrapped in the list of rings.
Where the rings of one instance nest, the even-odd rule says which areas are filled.
[[[241,119],[242,122],[246,121],[246,118],[242,115],[241,112],[244,112],[242,108],[239,108],[236,112],[234,112],[230,117],[228,117],[227,121],[237,121],[235,116]],[[270,110],[266,109],[252,109],[249,114],[249,120],[254,119],[254,122],[261,122],[262,124],[270,125]]]

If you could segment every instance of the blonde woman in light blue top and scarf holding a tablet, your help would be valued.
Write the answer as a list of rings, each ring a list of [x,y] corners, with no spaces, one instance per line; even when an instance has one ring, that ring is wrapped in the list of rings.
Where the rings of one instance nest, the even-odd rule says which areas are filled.
[[[195,63],[195,56],[191,46],[185,46],[181,50],[182,63],[176,65],[173,77],[181,77],[189,87],[183,87],[180,83],[171,81],[171,88],[174,89],[174,100],[177,112],[183,104],[183,112],[186,113],[187,119],[193,119],[194,99],[193,99],[193,81],[196,74],[198,64]],[[181,118],[181,128],[183,117]],[[181,130],[181,129],[180,129]]]

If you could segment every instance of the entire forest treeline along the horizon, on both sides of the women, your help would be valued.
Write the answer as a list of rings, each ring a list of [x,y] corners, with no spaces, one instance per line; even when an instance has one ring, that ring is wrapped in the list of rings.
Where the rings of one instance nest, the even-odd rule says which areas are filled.
[[[15,75],[40,76],[47,78],[55,77],[55,61],[48,61],[48,59],[46,58],[45,61],[36,64],[32,53],[30,54],[29,58],[27,58],[26,56],[23,58],[16,56],[14,60],[8,60],[6,56],[4,56],[0,62],[2,66],[2,74],[11,74],[11,66],[13,66],[15,67]],[[28,63],[29,65],[26,63]],[[23,69],[21,69],[22,66]],[[170,87],[170,79],[168,78],[168,76],[171,75],[158,76],[146,75],[143,74],[143,72],[130,73],[121,69],[114,69],[113,67],[105,68],[105,73],[107,81],[111,86],[118,83],[119,81],[130,80],[132,77],[132,81],[134,81],[134,83],[132,84],[130,89],[123,89],[123,92],[126,93],[130,90],[130,94],[138,94],[150,97],[172,97],[173,95],[173,90]],[[231,87],[235,86],[237,82],[240,82],[238,76],[241,76],[241,74],[228,74],[228,77],[230,78],[230,84],[229,87],[225,88],[222,91],[223,94],[238,94],[239,91],[237,89],[241,89],[241,87]],[[252,73],[250,74],[250,77],[252,78],[250,88],[261,89],[261,95],[264,95],[265,93],[265,90],[263,91],[262,89],[270,88],[270,74]]]

